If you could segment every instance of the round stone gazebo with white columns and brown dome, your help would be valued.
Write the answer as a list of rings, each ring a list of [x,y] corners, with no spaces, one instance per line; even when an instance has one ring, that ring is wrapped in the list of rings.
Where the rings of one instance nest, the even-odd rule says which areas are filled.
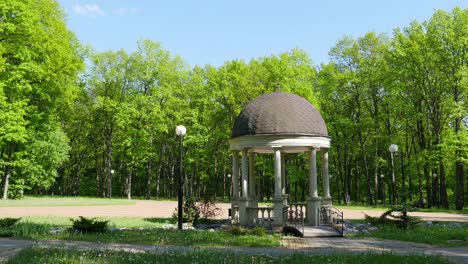
[[[268,222],[272,226],[284,226],[288,210],[300,208],[302,220],[307,225],[318,226],[320,210],[332,206],[328,174],[330,141],[322,116],[303,97],[277,91],[248,103],[237,117],[229,140],[233,157],[231,210],[238,223],[253,226]],[[309,153],[309,195],[298,206],[288,204],[285,155],[303,152]],[[258,206],[254,166],[255,156],[259,154],[274,156],[273,207]],[[321,196],[317,191],[318,155],[322,159]]]

